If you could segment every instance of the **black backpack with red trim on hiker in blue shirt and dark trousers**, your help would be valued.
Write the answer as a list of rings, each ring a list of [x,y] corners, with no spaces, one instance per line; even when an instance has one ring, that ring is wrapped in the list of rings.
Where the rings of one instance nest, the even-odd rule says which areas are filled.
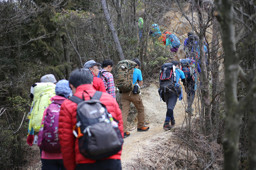
[[[159,76],[160,91],[172,92],[175,90],[176,73],[173,72],[173,63],[165,63],[161,67]]]

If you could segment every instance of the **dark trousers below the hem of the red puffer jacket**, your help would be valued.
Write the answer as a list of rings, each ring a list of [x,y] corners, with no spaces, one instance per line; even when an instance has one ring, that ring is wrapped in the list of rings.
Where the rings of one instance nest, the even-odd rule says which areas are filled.
[[[76,170],[122,170],[120,159],[106,159],[95,163],[79,163]]]

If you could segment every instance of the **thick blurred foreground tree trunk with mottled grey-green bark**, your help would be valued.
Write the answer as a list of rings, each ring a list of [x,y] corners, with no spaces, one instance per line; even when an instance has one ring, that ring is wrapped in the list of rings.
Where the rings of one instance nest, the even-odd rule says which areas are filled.
[[[217,19],[221,25],[219,29],[225,52],[226,133],[222,140],[224,168],[225,170],[238,170],[238,143],[243,112],[237,100],[240,60],[236,55],[235,12],[232,0],[215,0],[215,4],[217,5]]]

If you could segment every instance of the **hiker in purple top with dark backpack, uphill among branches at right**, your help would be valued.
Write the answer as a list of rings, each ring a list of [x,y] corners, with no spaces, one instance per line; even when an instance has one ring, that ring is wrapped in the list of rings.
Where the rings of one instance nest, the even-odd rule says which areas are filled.
[[[198,37],[193,35],[192,32],[188,33],[188,37],[184,40],[184,51],[186,53],[186,58],[194,57],[195,51],[194,49],[197,48]]]

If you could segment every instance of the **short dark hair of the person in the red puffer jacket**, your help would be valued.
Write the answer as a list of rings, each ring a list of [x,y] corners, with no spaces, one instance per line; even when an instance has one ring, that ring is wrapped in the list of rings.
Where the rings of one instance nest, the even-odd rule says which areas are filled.
[[[77,69],[72,71],[68,81],[69,84],[72,84],[76,88],[82,84],[91,84],[93,75],[85,69]]]

